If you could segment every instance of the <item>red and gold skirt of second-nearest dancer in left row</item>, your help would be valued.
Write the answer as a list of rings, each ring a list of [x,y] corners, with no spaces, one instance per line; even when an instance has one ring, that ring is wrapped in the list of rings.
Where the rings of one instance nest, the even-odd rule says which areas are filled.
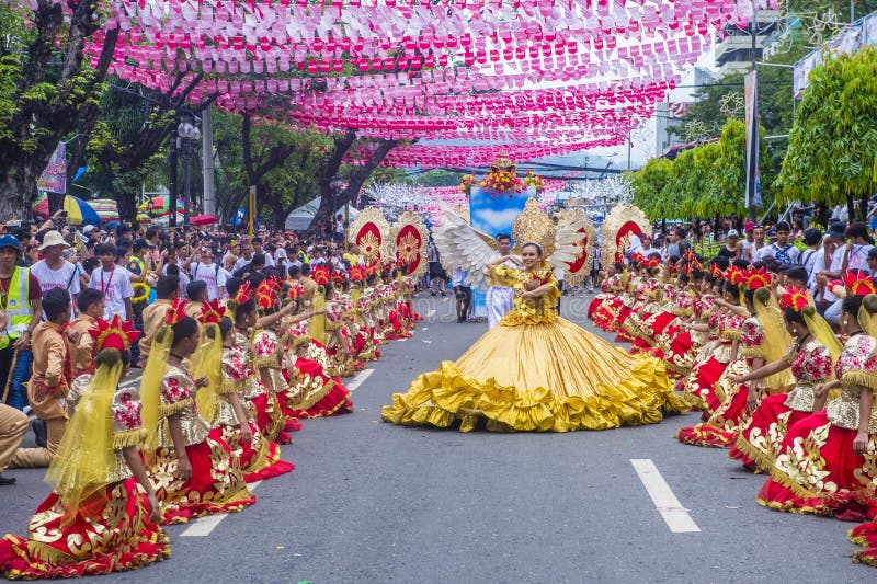
[[[176,477],[179,459],[174,448],[156,450],[149,480],[161,502],[164,525],[186,523],[192,517],[213,513],[241,511],[255,503],[241,474],[240,462],[224,442],[208,437],[203,443],[186,446],[185,453],[192,465],[189,481]]]

